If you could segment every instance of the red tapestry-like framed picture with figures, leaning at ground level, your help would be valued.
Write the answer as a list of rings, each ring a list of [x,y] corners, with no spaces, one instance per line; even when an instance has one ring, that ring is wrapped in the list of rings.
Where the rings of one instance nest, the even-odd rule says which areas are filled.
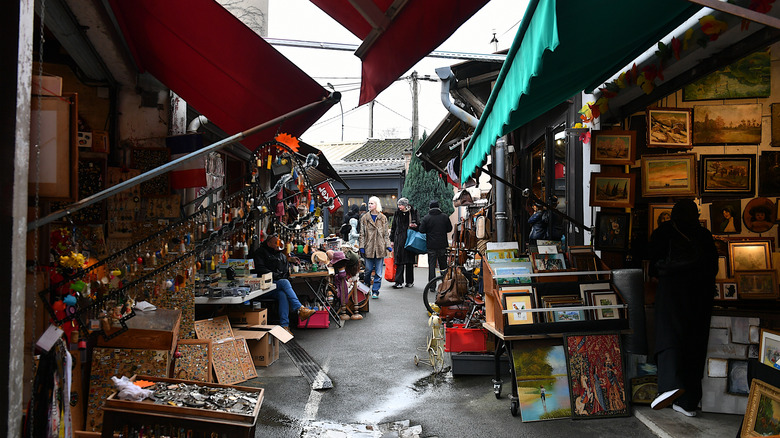
[[[629,416],[620,335],[564,334],[563,345],[572,418]]]

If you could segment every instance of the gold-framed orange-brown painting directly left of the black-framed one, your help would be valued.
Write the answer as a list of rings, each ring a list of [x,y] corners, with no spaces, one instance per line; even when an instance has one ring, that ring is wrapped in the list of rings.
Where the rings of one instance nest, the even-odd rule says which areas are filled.
[[[696,196],[696,155],[643,155],[642,196]]]

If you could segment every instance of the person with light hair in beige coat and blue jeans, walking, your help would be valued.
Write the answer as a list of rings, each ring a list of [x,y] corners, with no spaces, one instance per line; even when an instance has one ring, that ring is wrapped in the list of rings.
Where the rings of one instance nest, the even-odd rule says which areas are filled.
[[[360,217],[358,244],[360,255],[366,259],[366,284],[371,285],[371,298],[379,298],[385,254],[393,248],[390,246],[387,216],[382,214],[382,203],[376,196],[368,198],[368,212]]]

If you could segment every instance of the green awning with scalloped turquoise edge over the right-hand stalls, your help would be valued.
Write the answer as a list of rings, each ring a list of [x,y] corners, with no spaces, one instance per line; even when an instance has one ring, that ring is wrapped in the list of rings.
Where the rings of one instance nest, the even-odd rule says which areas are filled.
[[[531,0],[466,146],[461,181],[497,138],[590,92],[700,9],[686,0]]]

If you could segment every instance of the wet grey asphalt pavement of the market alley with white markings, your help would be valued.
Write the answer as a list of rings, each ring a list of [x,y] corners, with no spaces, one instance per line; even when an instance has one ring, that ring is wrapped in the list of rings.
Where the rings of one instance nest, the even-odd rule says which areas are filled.
[[[363,320],[346,321],[341,328],[333,323],[328,329],[293,328],[333,388],[311,390],[282,349],[279,360],[258,367],[258,377],[242,384],[265,389],[255,436],[659,436],[635,416],[523,423],[510,413],[509,382],[496,399],[491,376],[453,376],[449,353],[443,373],[416,366],[414,356],[423,352],[430,329],[422,303],[427,269],[415,269],[415,276],[413,288],[392,289],[383,282]]]

